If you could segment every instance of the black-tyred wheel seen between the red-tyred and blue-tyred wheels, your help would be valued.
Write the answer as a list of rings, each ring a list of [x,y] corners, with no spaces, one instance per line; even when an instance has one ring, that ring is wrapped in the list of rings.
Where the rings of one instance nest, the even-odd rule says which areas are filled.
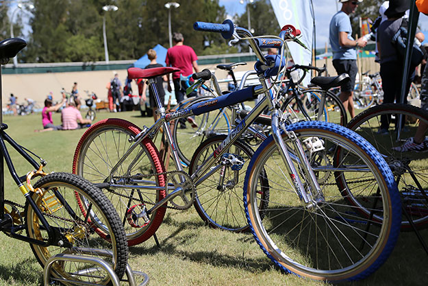
[[[189,166],[189,174],[193,174],[210,154],[226,139],[226,135],[217,135],[207,139],[194,152]],[[197,185],[194,207],[203,221],[213,228],[242,232],[248,230],[242,203],[242,187],[245,171],[253,156],[253,150],[242,141],[236,141],[226,154],[223,154],[214,167],[214,171],[204,182]],[[258,193],[266,208],[268,203],[268,180],[262,178],[260,184],[265,191]]]

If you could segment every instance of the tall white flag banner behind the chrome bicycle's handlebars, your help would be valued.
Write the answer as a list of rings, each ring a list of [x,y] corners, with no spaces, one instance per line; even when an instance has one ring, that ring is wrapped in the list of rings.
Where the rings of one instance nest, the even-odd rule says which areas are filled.
[[[314,34],[314,18],[310,0],[270,0],[273,11],[280,27],[293,25],[301,30],[301,42],[308,49],[297,43],[288,42],[292,59],[295,64],[309,65],[312,62],[312,37]],[[310,73],[303,80],[303,84],[310,82]]]

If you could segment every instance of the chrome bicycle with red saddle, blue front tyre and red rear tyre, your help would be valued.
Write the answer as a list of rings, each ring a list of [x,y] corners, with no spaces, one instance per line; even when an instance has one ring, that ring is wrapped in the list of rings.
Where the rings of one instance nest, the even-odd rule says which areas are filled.
[[[234,204],[236,207],[234,211],[240,209],[241,212],[230,213],[229,208],[218,207],[214,214],[223,213],[223,215],[213,219],[223,228],[237,229],[236,226],[242,228],[249,225],[257,243],[267,253],[275,253],[275,257],[271,258],[275,263],[279,263],[282,269],[288,267],[291,272],[301,276],[330,281],[362,278],[374,272],[392,251],[401,219],[399,194],[385,161],[373,146],[342,126],[319,121],[286,126],[286,115],[277,108],[278,97],[273,89],[275,81],[270,80],[271,76],[279,73],[285,63],[278,56],[264,57],[259,46],[266,47],[266,44],[256,42],[247,29],[235,27],[230,20],[223,24],[197,22],[194,28],[222,32],[225,38],[231,38],[231,36],[237,39],[240,39],[240,36],[248,38],[258,58],[255,69],[262,85],[243,88],[200,104],[193,104],[185,110],[166,114],[160,103],[154,78],[172,73],[177,69],[131,68],[128,70],[128,78],[149,79],[149,86],[155,93],[160,119],[150,128],[144,127],[142,130],[133,123],[121,119],[107,119],[96,123],[85,132],[77,145],[73,158],[73,173],[81,174],[94,182],[113,201],[123,221],[129,223],[125,226],[129,244],[144,241],[155,233],[164,217],[167,202],[171,202],[169,207],[172,208],[189,208],[194,199],[200,195],[199,189],[197,192],[196,188],[210,180],[212,176],[216,176],[217,187],[210,189],[212,195],[223,193],[226,204],[221,206],[227,207],[229,204]],[[281,40],[266,39],[270,43],[268,47],[278,47],[278,43],[286,40],[300,43],[297,31],[291,26],[285,27],[279,38]],[[284,44],[281,44],[281,47],[284,47]],[[339,76],[312,81],[324,89],[338,86],[343,80],[345,80],[344,77]],[[238,126],[227,134],[221,143],[204,149],[210,150],[206,152],[207,156],[194,155],[194,158],[201,158],[200,163],[196,163],[197,170],[193,174],[184,172],[171,139],[168,122],[238,104],[260,94],[264,94],[265,97]],[[272,110],[273,134],[260,145],[250,162],[244,161],[240,156],[242,149],[236,148],[238,146],[236,142],[265,108]],[[158,156],[158,150],[151,141],[161,126],[171,145],[177,171],[165,171],[162,160]],[[119,142],[120,146],[118,146]],[[279,151],[279,157],[270,156],[270,153],[275,150]],[[266,164],[264,164],[266,167],[260,165],[268,158],[278,158],[277,163],[286,165],[284,173],[281,173],[277,167],[272,172]],[[225,178],[225,169],[233,177]],[[236,180],[238,182],[242,180],[240,171],[243,169],[247,169],[244,178],[244,209],[242,209],[240,196],[233,193]],[[284,182],[276,184],[274,181],[279,178],[283,178]],[[364,182],[364,187],[361,181]],[[343,197],[340,190],[349,189],[351,184],[354,184],[355,191],[348,191],[355,200],[361,201],[362,206],[369,210],[370,207],[366,206],[364,200],[377,191],[381,208],[377,208],[371,218],[358,215],[355,213],[355,206],[349,206],[341,201]],[[290,186],[289,192],[281,193],[273,188],[274,186],[281,186],[281,188]],[[356,189],[355,186],[359,188]],[[284,195],[290,195],[288,200],[284,200]],[[301,215],[303,218],[306,215],[308,219],[313,215],[320,217],[325,224],[323,228],[312,228],[313,224],[303,228],[303,222],[301,222],[302,228],[299,229],[307,231],[312,228],[312,233],[317,235],[319,233],[320,239],[326,232],[336,243],[331,241],[326,246],[324,241],[321,250],[315,247],[316,243],[321,243],[320,241],[307,241],[307,239],[316,240],[317,235],[314,237],[305,233],[299,237],[297,234],[294,237],[295,240],[291,239],[291,241],[303,243],[304,249],[310,248],[315,253],[303,253],[303,259],[299,260],[300,264],[292,257],[284,257],[286,253],[300,252],[282,248],[284,234],[280,234],[279,230],[282,230],[284,224],[281,225],[281,222],[284,223],[286,218],[281,217],[284,213],[279,206],[284,204],[294,204],[293,208],[288,209],[289,213],[286,217],[293,219],[298,219]],[[291,213],[292,211],[295,213]],[[238,217],[242,212],[244,217]],[[210,214],[207,213],[207,215]],[[247,217],[247,223],[242,225],[245,217]],[[357,219],[362,223],[354,224],[353,222]],[[295,226],[299,226],[295,221],[290,223],[294,230],[296,230]],[[269,236],[266,231],[270,226],[272,226],[270,230],[277,232],[275,236],[273,234]],[[334,231],[339,229],[340,238],[351,242],[351,246],[342,244],[343,248],[340,248],[339,243],[344,242],[334,236],[339,235]],[[259,236],[260,234],[264,236]],[[287,236],[290,237],[290,235]],[[277,241],[278,238],[281,238],[281,241]],[[355,247],[356,243],[362,243],[363,248],[355,251],[358,249]],[[334,263],[322,260],[331,257],[329,246],[333,247],[334,254],[338,256]],[[278,251],[279,249],[284,251]],[[325,250],[327,255],[324,255]],[[319,257],[316,256],[318,253]],[[338,260],[340,263],[337,263]],[[312,264],[312,261],[315,262]],[[299,269],[299,265],[302,266],[302,270]]]

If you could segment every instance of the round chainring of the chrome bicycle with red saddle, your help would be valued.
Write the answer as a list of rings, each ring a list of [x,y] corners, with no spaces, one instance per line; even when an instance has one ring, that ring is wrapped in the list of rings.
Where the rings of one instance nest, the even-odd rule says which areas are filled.
[[[181,179],[184,179],[184,182],[181,182]],[[192,179],[184,171],[168,172],[165,187],[166,194],[168,195],[168,189],[177,189],[178,187],[183,189],[183,193],[181,193],[181,195],[177,195],[177,197],[172,200],[169,200],[169,203],[176,209],[186,210],[192,206],[196,195],[196,189]]]

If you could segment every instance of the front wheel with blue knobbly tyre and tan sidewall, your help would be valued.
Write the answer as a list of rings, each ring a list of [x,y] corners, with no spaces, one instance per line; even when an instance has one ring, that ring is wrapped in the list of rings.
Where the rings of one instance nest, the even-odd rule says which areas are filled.
[[[299,276],[323,281],[368,276],[386,261],[399,235],[401,205],[388,165],[364,139],[342,126],[311,121],[287,128],[303,142],[323,195],[311,193],[310,204],[303,202],[270,136],[251,159],[244,182],[245,211],[257,243],[282,270]],[[302,164],[290,141],[285,143],[308,190]],[[311,146],[318,148],[307,150]],[[269,204],[260,209],[257,192],[265,173]],[[349,204],[343,188],[372,216]],[[263,221],[260,212],[266,213]]]

